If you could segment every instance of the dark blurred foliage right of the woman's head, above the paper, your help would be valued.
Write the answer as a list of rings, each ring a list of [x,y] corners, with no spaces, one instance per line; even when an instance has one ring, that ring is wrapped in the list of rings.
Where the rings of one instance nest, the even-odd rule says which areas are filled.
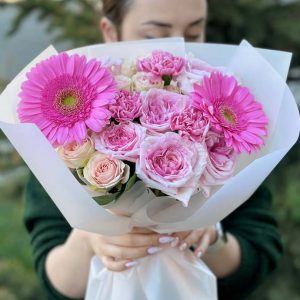
[[[208,41],[239,43],[293,52],[300,65],[300,1],[208,0]]]

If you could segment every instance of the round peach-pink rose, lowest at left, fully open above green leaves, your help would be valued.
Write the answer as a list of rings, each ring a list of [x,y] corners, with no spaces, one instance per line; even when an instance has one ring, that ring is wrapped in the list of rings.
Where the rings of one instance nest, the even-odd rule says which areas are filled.
[[[83,169],[83,179],[93,192],[105,192],[129,179],[129,166],[118,159],[95,152]]]

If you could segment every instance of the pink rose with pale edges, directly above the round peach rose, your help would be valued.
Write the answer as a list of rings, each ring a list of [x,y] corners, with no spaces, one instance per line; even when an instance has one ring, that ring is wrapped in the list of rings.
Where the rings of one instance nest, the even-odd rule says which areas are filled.
[[[146,137],[146,128],[139,124],[126,122],[112,124],[94,136],[98,151],[114,158],[136,162],[141,142]]]

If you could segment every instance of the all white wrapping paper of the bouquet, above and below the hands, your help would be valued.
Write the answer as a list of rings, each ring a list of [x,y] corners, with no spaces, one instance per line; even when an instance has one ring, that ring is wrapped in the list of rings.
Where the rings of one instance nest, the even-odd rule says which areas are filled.
[[[15,112],[21,82],[33,65],[56,53],[53,47],[49,47],[0,96],[0,128],[74,228],[119,235],[130,231],[133,226],[169,233],[214,224],[254,193],[298,139],[299,112],[285,83],[291,59],[289,53],[255,49],[247,42],[240,46],[225,46],[184,44],[182,39],[96,45],[70,52],[85,54],[88,58],[109,55],[130,58],[133,54],[149,54],[154,49],[181,56],[191,51],[212,65],[228,66],[265,108],[270,119],[266,145],[257,155],[242,155],[235,176],[224,186],[216,188],[209,199],[194,195],[189,207],[184,208],[170,197],[157,199],[142,182],[138,182],[113,207],[122,216],[112,215],[96,204],[73,178],[35,125],[18,124]],[[193,297],[213,300],[216,299],[216,280],[201,261],[175,250],[147,257],[137,267],[123,273],[109,272],[94,259],[86,299],[117,300],[120,295],[127,297],[126,300]]]

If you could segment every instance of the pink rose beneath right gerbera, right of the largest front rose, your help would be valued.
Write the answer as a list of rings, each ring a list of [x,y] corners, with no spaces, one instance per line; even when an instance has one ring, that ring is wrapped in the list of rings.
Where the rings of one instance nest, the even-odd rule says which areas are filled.
[[[209,133],[209,144],[216,140],[215,133]],[[208,148],[208,162],[200,179],[203,194],[209,197],[212,186],[222,185],[235,170],[237,155],[232,147],[226,146],[222,137],[217,138],[213,146]]]

